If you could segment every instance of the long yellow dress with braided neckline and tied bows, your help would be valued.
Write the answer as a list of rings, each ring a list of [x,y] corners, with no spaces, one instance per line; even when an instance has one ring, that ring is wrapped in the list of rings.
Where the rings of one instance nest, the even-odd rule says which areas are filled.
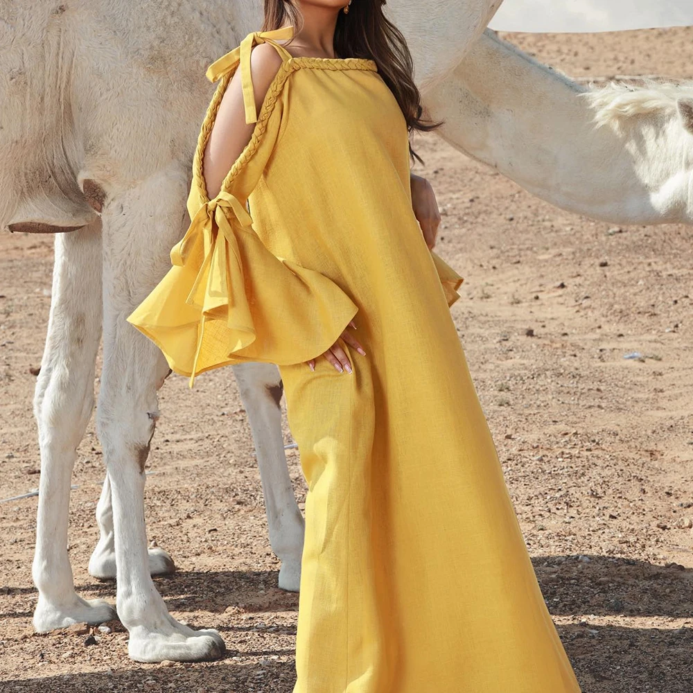
[[[412,211],[401,110],[374,61],[292,58],[291,32],[209,67],[191,225],[128,319],[191,378],[279,365],[308,484],[294,693],[579,692],[450,317],[462,277]],[[264,41],[283,62],[256,114]],[[202,154],[239,65],[256,126],[209,200]],[[366,356],[340,337],[352,317]],[[353,374],[310,371],[337,340]]]

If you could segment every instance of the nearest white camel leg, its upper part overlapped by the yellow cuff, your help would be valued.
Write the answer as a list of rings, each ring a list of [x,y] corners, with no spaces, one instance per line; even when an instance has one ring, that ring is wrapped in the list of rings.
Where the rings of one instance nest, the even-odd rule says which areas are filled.
[[[103,373],[96,426],[111,487],[118,589],[130,631],[128,653],[140,662],[218,658],[216,631],[193,631],[169,615],[149,570],[144,467],[159,417],[157,388],[168,374],[161,352],[126,318],[170,267],[182,237],[186,170],[158,173],[109,202],[103,220]]]

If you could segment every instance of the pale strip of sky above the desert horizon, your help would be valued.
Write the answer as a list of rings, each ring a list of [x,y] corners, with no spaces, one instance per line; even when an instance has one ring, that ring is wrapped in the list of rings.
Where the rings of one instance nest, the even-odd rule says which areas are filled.
[[[498,31],[618,31],[693,25],[693,0],[505,0]]]

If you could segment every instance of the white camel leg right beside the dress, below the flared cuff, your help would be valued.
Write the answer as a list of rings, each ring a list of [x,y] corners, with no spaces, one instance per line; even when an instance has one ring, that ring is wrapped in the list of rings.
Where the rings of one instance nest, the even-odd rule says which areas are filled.
[[[262,363],[233,368],[258,458],[270,544],[281,561],[279,587],[298,592],[305,528],[291,485],[281,437],[279,402],[282,385],[279,370],[276,366]]]

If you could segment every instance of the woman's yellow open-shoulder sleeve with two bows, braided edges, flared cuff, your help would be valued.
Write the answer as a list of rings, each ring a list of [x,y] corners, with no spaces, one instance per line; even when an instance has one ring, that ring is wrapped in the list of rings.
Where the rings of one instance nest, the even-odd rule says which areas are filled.
[[[290,28],[290,27],[289,27]],[[285,37],[285,30],[254,33],[207,71],[221,79],[202,124],[188,196],[191,223],[171,251],[172,267],[128,322],[157,344],[169,367],[188,376],[223,365],[262,361],[289,365],[331,347],[358,308],[337,283],[315,270],[272,254],[252,227],[247,196],[260,179],[277,141],[283,62],[255,111],[249,80],[254,43]],[[252,137],[229,170],[220,193],[207,199],[202,153],[223,92],[240,64],[246,121]],[[247,71],[247,73],[246,73]]]

